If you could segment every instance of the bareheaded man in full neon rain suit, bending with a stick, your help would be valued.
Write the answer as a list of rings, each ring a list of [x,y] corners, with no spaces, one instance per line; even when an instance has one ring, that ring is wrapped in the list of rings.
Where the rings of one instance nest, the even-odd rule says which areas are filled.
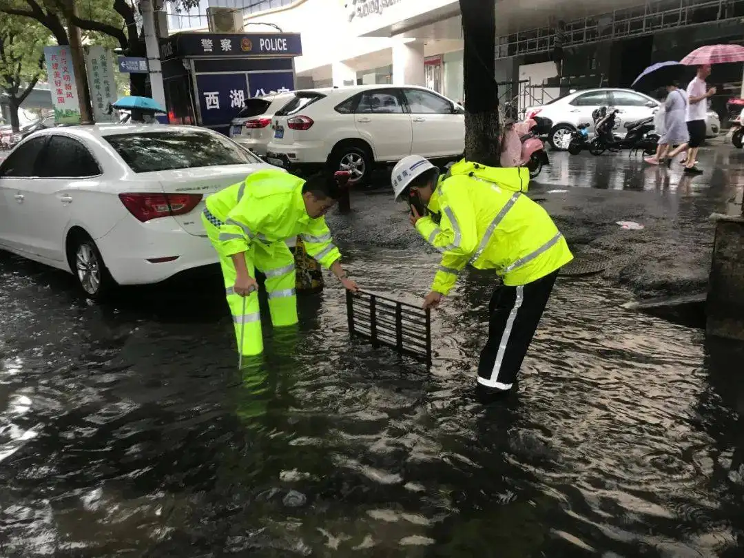
[[[341,252],[323,217],[339,196],[339,186],[323,175],[306,182],[269,169],[207,198],[202,221],[219,254],[237,344],[244,356],[263,352],[255,269],[266,275],[272,324],[281,327],[298,321],[295,258],[285,240],[301,235],[311,257],[330,269],[346,289],[357,290],[341,268]],[[243,297],[248,297],[245,313]]]

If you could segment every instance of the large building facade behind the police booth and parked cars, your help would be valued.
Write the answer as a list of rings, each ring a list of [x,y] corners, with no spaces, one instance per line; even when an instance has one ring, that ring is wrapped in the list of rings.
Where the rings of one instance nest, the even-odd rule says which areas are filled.
[[[423,85],[464,100],[458,0],[203,1],[236,4],[246,32],[302,33],[298,86]],[[496,22],[499,95],[524,109],[571,89],[629,86],[700,45],[742,43],[744,0],[497,0]],[[738,94],[741,68],[713,79]]]

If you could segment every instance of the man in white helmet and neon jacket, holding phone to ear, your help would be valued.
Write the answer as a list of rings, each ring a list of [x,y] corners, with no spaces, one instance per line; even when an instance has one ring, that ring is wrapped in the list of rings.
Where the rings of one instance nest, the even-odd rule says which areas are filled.
[[[442,252],[423,306],[436,307],[468,263],[501,275],[504,286],[490,302],[477,391],[502,394],[516,380],[559,268],[573,256],[551,217],[524,195],[527,169],[460,161],[438,178],[439,170],[418,155],[403,158],[393,170],[394,193],[411,203],[411,223]],[[423,217],[416,205],[437,219]]]

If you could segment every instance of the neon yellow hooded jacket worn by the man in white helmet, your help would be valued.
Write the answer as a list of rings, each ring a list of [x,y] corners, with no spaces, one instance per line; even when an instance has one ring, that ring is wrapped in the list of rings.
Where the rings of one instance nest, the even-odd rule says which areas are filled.
[[[513,183],[517,168],[498,169]],[[548,213],[523,193],[466,174],[449,176],[429,202],[441,211],[441,222],[420,219],[416,228],[443,252],[432,290],[449,293],[470,263],[495,269],[508,286],[545,277],[573,259]]]

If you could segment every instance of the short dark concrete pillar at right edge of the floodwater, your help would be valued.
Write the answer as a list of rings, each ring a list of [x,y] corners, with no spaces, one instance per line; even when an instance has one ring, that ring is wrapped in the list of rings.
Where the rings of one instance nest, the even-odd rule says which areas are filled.
[[[716,239],[708,279],[709,336],[744,341],[744,216],[713,214]]]

